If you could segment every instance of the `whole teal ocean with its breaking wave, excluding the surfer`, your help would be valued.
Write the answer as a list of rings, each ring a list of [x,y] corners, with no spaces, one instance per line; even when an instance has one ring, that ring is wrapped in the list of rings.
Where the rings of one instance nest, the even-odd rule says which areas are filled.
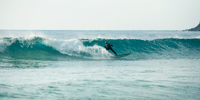
[[[0,100],[199,99],[200,32],[0,30]]]

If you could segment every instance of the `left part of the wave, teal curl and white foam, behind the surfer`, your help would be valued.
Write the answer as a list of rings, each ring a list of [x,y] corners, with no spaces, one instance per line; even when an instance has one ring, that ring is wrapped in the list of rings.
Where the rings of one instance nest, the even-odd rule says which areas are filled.
[[[101,46],[84,46],[78,39],[56,40],[34,37],[3,38],[0,43],[1,58],[31,60],[71,60],[108,58]]]

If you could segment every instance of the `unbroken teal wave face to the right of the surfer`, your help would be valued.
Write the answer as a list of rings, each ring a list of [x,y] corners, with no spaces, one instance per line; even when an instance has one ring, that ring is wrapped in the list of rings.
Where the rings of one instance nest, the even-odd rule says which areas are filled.
[[[113,44],[117,53],[133,52],[129,59],[200,57],[200,39],[98,39],[83,43],[86,46],[104,46],[105,41]]]

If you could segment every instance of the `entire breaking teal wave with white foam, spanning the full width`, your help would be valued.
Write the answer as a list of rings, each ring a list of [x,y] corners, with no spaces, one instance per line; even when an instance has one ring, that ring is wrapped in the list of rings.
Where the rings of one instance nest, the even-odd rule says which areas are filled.
[[[105,41],[120,53],[133,52],[122,59],[200,58],[200,39],[47,39],[1,38],[0,58],[29,60],[111,59]]]

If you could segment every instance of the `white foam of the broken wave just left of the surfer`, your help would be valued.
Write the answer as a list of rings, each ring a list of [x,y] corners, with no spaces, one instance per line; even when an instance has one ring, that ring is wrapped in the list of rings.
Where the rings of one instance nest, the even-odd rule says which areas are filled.
[[[63,54],[68,54],[71,56],[81,56],[81,53],[86,53],[92,55],[92,57],[108,57],[110,53],[101,46],[84,46],[83,43],[78,39],[68,39],[68,40],[57,40],[57,39],[47,39],[45,44],[52,46],[59,52]]]

